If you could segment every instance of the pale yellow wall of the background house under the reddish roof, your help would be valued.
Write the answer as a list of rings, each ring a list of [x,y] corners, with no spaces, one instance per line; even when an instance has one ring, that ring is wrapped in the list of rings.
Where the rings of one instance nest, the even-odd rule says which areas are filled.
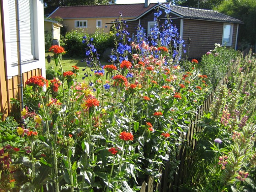
[[[101,29],[104,32],[109,32],[112,24],[107,24],[114,21],[116,18],[85,18],[85,19],[64,19],[63,26],[67,27],[67,31],[71,31],[74,29],[84,29],[86,33],[94,33],[96,31],[96,20],[101,20]],[[130,17],[125,19],[132,19]],[[87,27],[75,27],[75,21],[78,20],[87,20]],[[105,27],[107,25],[107,27]]]

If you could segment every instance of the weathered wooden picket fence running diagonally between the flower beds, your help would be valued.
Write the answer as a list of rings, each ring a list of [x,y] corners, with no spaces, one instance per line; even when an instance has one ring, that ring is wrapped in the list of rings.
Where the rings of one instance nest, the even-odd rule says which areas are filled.
[[[235,67],[236,65],[234,63],[224,78],[219,81],[219,84],[213,89],[211,94],[208,95],[203,105],[198,108],[194,119],[188,125],[189,128],[187,134],[180,135],[180,137],[184,139],[184,142],[179,146],[178,153],[176,155],[176,160],[180,161],[180,164],[179,168],[176,170],[176,174],[173,176],[173,180],[169,181],[170,162],[166,161],[165,166],[161,166],[159,169],[159,172],[162,173],[160,178],[161,183],[155,183],[154,177],[149,176],[148,181],[143,182],[140,192],[179,192],[178,187],[186,181],[187,176],[189,176],[189,166],[193,163],[190,151],[196,149],[197,146],[197,141],[193,136],[195,133],[201,132],[201,127],[197,126],[197,122],[202,118],[205,112],[209,112],[215,92],[221,85],[226,85],[228,83],[228,79]]]

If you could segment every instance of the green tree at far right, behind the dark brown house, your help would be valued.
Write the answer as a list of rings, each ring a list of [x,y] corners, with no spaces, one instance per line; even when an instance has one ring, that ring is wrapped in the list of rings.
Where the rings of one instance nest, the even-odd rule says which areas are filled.
[[[239,26],[240,46],[256,43],[256,0],[225,0],[217,10],[244,22]]]

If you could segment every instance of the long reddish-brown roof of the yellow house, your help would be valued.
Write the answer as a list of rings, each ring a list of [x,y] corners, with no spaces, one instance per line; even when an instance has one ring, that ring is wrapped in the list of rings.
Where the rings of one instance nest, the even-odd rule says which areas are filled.
[[[139,4],[112,4],[112,5],[86,5],[86,6],[63,6],[58,7],[48,17],[60,16],[63,19],[80,18],[112,18],[118,17],[120,12],[125,17],[138,17],[145,11],[153,8],[157,3],[150,3],[144,7],[144,3]]]

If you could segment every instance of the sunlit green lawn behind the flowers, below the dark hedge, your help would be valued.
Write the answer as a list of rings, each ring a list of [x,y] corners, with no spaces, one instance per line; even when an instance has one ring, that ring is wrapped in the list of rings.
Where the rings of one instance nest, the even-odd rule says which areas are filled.
[[[50,53],[50,52],[45,53],[46,69],[52,68],[52,69],[54,69],[54,70],[59,70],[59,66],[56,67],[56,65],[55,65],[53,59],[51,59],[51,62],[50,62],[50,63],[47,62],[47,56],[48,56],[48,55],[53,56],[53,53]],[[62,67],[63,67],[63,70],[64,70],[64,71],[69,71],[69,70],[71,70],[73,65],[76,65],[77,67],[80,68],[79,76],[76,77],[77,82],[83,82],[83,81],[84,81],[84,80],[82,79],[82,77],[84,76],[84,71],[82,71],[82,69],[85,69],[85,67],[86,67],[85,64],[86,64],[86,63],[85,63],[85,62],[81,62],[82,59],[84,59],[84,58],[79,58],[79,57],[66,57],[66,56],[64,56],[64,57],[62,57],[62,60],[60,61],[61,64],[62,64]],[[105,61],[105,60],[101,60],[100,62],[101,62],[101,64],[103,64],[103,65],[105,65],[105,64],[110,64],[110,63],[108,63],[108,62]],[[93,79],[93,77],[94,77],[94,72],[91,71],[90,69],[87,69],[87,71],[91,73],[92,79]]]

